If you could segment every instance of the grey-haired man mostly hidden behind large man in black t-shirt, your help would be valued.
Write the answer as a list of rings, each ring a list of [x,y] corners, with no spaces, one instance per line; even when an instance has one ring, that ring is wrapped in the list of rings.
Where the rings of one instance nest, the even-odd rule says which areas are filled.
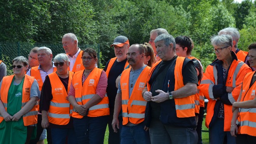
[[[156,54],[156,47],[155,47],[154,40],[156,39],[157,36],[159,36],[163,33],[169,34],[168,31],[166,29],[163,29],[163,28],[153,29],[152,31],[150,31],[149,44],[151,44],[151,46],[153,47],[153,50],[154,50],[154,53],[155,53],[155,56],[156,56],[156,62],[158,62],[160,60],[160,58]]]

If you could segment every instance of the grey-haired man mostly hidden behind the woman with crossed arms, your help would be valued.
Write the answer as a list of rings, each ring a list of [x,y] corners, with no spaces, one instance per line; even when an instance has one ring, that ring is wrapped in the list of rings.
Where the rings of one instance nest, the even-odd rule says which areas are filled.
[[[235,52],[235,54],[237,55],[237,59],[243,61],[245,64],[247,64],[250,67],[250,63],[248,61],[249,59],[248,52],[242,51],[237,48],[237,43],[240,38],[239,31],[236,28],[228,27],[228,28],[221,29],[218,33],[218,35],[224,35],[224,34],[232,36],[232,40],[233,40],[232,51]],[[252,68],[252,67],[250,68],[252,69],[252,71],[256,70],[255,68]]]

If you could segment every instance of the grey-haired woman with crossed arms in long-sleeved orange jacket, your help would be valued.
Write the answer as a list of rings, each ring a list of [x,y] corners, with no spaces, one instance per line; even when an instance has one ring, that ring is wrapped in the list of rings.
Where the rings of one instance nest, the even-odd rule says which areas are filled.
[[[237,101],[242,80],[251,72],[247,64],[237,59],[232,49],[232,37],[220,35],[211,38],[217,59],[207,66],[199,86],[209,100],[205,125],[209,128],[211,144],[235,144],[230,134],[232,104]]]

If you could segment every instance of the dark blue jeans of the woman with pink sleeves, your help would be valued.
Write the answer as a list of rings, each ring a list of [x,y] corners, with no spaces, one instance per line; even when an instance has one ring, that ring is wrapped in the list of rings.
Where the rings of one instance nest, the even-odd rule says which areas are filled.
[[[74,118],[78,144],[103,144],[109,116]]]

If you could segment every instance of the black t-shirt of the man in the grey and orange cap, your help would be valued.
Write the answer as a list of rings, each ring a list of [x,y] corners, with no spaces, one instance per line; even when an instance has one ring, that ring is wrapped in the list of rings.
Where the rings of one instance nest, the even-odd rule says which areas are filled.
[[[107,62],[104,71],[107,71],[109,61]],[[107,78],[107,96],[109,97],[109,108],[114,108],[117,94],[116,78],[123,72],[126,61],[127,59],[120,62],[117,62],[116,60],[109,71],[109,76]]]

